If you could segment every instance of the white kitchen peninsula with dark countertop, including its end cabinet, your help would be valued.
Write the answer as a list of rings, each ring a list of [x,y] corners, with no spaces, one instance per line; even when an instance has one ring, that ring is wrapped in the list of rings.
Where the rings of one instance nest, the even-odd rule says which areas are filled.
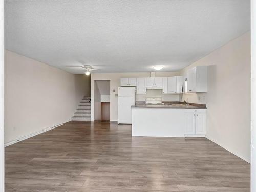
[[[206,135],[206,105],[166,102],[132,106],[132,136],[185,137]]]

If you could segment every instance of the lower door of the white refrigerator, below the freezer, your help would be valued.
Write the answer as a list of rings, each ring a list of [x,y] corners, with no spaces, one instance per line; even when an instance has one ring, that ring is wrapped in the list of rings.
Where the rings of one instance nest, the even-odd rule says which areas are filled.
[[[135,97],[118,97],[118,124],[132,124],[132,108]]]

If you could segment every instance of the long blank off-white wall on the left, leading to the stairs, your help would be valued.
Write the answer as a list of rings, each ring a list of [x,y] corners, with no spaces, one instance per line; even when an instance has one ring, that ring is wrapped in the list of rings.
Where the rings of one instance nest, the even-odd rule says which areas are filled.
[[[5,51],[5,143],[71,120],[88,95],[85,75]]]

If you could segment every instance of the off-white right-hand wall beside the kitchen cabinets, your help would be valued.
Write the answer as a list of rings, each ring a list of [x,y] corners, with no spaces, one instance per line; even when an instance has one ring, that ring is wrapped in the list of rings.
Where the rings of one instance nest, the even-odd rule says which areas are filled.
[[[182,100],[207,104],[207,137],[249,162],[250,33],[194,62],[181,75],[197,65],[208,66],[208,92],[184,94]]]

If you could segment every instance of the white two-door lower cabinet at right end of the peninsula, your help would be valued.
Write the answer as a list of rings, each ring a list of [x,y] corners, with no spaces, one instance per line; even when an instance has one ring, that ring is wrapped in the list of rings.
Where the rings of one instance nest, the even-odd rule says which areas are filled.
[[[189,110],[185,113],[186,130],[185,136],[204,136],[206,135],[207,111],[203,109]]]

